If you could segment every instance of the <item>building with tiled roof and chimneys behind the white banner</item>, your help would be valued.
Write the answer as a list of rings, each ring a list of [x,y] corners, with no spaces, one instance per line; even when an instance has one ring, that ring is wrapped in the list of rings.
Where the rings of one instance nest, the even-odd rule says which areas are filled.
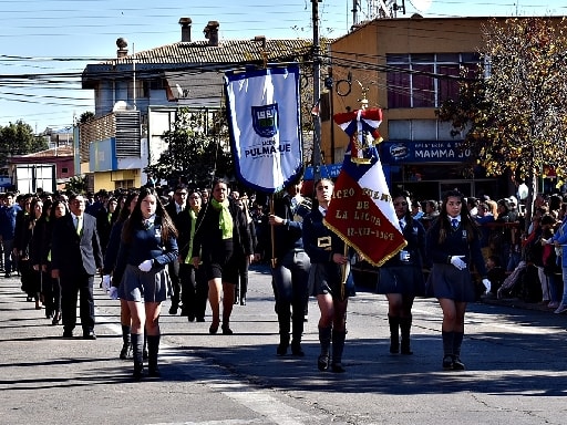
[[[179,106],[219,110],[224,72],[271,62],[303,62],[309,40],[219,40],[217,21],[205,40],[192,40],[192,20],[179,19],[181,41],[128,54],[118,39],[117,58],[89,64],[82,87],[94,90],[95,120],[78,126],[76,169],[89,176],[90,190],[140,187],[143,173],[165,151],[162,135],[172,129]]]

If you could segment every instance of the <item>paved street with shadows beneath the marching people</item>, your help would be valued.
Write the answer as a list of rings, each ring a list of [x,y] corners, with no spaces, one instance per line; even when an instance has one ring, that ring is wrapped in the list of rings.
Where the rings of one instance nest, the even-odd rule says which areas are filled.
[[[96,288],[96,341],[63,340],[0,278],[0,424],[565,424],[567,315],[475,303],[466,315],[467,370],[441,369],[441,310],[414,307],[414,355],[388,352],[388,305],[359,290],[349,303],[344,374],[317,370],[310,301],[305,357],[277,357],[269,270],[250,271],[248,305],[231,336],[162,317],[161,380],[131,380],[117,357],[118,304]],[[80,328],[75,331],[80,331]],[[75,332],[80,333],[80,332]]]

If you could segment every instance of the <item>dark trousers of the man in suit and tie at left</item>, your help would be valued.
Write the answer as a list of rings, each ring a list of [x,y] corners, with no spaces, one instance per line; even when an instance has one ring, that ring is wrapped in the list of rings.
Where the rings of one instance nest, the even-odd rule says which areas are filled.
[[[76,299],[81,314],[83,333],[94,330],[94,276],[90,274],[62,274],[61,283],[61,320],[65,331],[72,331],[76,325]]]

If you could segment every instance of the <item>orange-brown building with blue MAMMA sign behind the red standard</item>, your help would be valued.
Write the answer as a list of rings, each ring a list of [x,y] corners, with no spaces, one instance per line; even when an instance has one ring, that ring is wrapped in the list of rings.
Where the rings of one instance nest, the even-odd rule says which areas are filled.
[[[456,99],[461,68],[476,68],[486,22],[487,18],[377,19],[331,44],[329,110],[360,108],[361,89],[368,90],[369,107],[383,111],[379,131],[384,142],[379,146],[391,190],[403,188],[420,199],[439,199],[452,188],[476,197],[514,193],[508,177],[487,177],[471,154],[458,148],[462,135],[452,136],[451,123],[435,115],[443,101]],[[342,162],[348,138],[331,126],[330,116],[323,122],[322,139],[326,159]]]

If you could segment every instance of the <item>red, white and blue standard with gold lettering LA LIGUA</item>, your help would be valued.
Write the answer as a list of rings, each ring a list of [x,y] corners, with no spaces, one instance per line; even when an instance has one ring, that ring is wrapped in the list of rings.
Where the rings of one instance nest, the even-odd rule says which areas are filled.
[[[324,225],[368,262],[380,267],[402,250],[403,238],[375,144],[382,111],[336,114],[350,136]]]

